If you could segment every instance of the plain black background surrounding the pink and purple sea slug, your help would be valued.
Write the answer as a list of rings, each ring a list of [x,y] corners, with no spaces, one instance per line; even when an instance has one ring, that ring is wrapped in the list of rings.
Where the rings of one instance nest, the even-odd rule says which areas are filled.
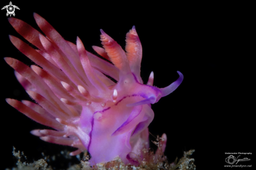
[[[252,152],[255,148],[252,145],[255,143],[252,138],[255,136],[255,126],[252,126],[255,99],[251,88],[252,73],[255,72],[255,53],[251,51],[255,49],[255,41],[252,39],[253,21],[249,5],[140,4],[133,1],[119,4],[77,1],[12,3],[20,8],[15,10],[15,18],[39,30],[33,18],[33,12],[36,12],[64,39],[75,43],[76,36],[79,36],[90,52],[93,52],[91,46],[101,46],[99,29],[125,48],[126,33],[135,25],[143,48],[143,82],[148,81],[153,71],[154,86],[165,87],[178,78],[176,71],[183,73],[184,81],[180,87],[152,105],[155,117],[149,130],[154,135],[167,134],[165,154],[170,162],[176,156],[181,157],[183,151],[195,149],[193,156],[197,169],[222,169],[227,157],[225,152]],[[9,1],[2,1],[0,6],[8,4]],[[7,18],[6,9],[1,10],[1,58],[10,56],[27,65],[33,64],[10,42],[8,35],[24,39]],[[5,98],[31,99],[16,80],[12,67],[3,59],[0,63],[1,166],[14,166],[13,146],[24,151],[30,160],[41,158],[41,152],[53,155],[64,149],[74,151],[70,147],[41,141],[29,133],[46,127],[6,103]],[[73,158],[72,163],[79,161]],[[67,162],[61,164],[56,166],[63,168]]]

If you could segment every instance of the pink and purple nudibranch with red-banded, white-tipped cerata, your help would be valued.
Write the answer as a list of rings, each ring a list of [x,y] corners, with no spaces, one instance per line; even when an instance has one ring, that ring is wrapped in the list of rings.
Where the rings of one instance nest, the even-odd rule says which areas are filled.
[[[31,133],[43,141],[77,148],[71,155],[88,150],[92,164],[112,161],[117,156],[128,163],[130,153],[149,147],[148,126],[154,117],[151,104],[172,93],[181,84],[182,73],[178,71],[180,77],[165,88],[153,86],[153,72],[148,83],[143,84],[142,47],[135,26],[126,35],[126,52],[101,30],[103,48],[93,49],[104,60],[86,51],[79,37],[76,44],[66,41],[44,18],[35,13],[34,18],[46,36],[22,20],[8,20],[38,49],[14,36],[9,38],[40,67],[5,58],[19,83],[37,102],[7,98],[7,103],[55,129]]]

